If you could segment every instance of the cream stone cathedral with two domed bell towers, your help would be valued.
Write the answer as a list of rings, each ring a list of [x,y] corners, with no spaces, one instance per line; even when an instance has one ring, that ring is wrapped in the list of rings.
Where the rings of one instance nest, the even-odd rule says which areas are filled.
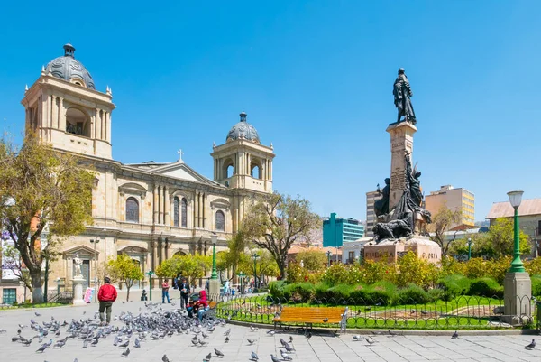
[[[118,254],[129,255],[146,273],[175,254],[212,254],[212,233],[218,236],[216,249],[225,250],[249,200],[272,192],[273,147],[260,143],[245,113],[225,143],[213,146],[212,180],[189,167],[181,152],[176,162],[114,160],[111,89],[96,90],[71,44],[42,68],[22,104],[27,130],[59,152],[78,154],[96,172],[94,223],[60,246],[50,265],[50,289],[56,290],[54,281],[69,288],[75,255],[83,260],[84,286],[94,287],[106,261]]]

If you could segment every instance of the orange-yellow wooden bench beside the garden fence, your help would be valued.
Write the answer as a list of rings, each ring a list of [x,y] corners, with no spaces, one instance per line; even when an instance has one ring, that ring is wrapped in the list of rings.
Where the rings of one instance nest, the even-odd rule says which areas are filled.
[[[282,307],[272,321],[275,330],[278,323],[280,328],[282,323],[303,323],[308,329],[314,324],[340,324],[345,311],[342,307]]]

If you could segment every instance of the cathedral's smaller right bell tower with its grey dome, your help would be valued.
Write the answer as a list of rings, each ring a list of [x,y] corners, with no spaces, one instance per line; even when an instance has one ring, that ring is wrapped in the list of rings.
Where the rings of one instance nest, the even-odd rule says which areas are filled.
[[[231,128],[225,144],[214,145],[214,181],[231,189],[272,192],[271,146],[260,143],[257,131],[242,112],[241,120]]]

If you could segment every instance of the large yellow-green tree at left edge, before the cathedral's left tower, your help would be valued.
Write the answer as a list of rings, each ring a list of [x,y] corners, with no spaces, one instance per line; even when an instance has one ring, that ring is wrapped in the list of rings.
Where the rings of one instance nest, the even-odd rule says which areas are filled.
[[[0,141],[0,227],[19,251],[32,281],[33,302],[43,301],[41,265],[64,238],[92,224],[94,174],[70,153],[54,151],[29,133],[17,150]],[[41,243],[48,226],[46,243]],[[45,240],[44,240],[45,241]]]

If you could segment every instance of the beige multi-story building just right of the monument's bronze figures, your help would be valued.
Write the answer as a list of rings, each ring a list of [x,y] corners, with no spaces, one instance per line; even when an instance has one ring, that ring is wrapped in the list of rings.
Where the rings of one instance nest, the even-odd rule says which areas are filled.
[[[460,224],[474,225],[475,195],[469,190],[463,188],[455,189],[451,185],[445,185],[440,190],[430,192],[430,195],[425,197],[425,209],[430,211],[432,215],[444,207],[450,210],[459,209],[462,211],[462,221]]]

